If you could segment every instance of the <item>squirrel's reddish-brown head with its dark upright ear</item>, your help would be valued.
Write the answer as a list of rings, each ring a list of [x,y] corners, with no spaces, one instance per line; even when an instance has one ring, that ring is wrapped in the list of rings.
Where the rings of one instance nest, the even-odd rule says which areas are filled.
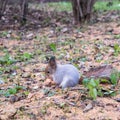
[[[55,73],[57,68],[57,63],[55,57],[51,57],[48,60],[48,65],[45,68],[46,77],[52,79],[52,75]]]

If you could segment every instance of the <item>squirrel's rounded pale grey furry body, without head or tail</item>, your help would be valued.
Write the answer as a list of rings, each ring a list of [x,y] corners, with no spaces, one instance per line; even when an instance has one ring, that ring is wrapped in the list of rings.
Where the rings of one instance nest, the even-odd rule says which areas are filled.
[[[74,87],[79,83],[79,72],[76,67],[71,64],[59,65],[52,75],[53,80],[62,88]]]

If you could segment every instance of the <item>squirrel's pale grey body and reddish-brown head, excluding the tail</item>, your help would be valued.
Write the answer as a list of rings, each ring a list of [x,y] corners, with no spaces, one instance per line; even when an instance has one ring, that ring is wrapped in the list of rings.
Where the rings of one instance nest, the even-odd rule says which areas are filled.
[[[75,66],[72,64],[57,64],[55,57],[49,59],[45,68],[45,75],[63,89],[74,87],[79,83],[80,79],[80,74]]]

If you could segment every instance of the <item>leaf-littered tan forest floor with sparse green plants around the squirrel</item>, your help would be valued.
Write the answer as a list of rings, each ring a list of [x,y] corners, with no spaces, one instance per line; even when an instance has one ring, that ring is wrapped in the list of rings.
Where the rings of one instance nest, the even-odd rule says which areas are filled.
[[[28,18],[21,27],[11,15],[0,21],[0,120],[120,120],[120,82],[100,84],[108,95],[93,101],[83,85],[62,90],[44,74],[51,55],[80,72],[105,64],[120,71],[119,11],[80,26],[66,12],[34,11]]]

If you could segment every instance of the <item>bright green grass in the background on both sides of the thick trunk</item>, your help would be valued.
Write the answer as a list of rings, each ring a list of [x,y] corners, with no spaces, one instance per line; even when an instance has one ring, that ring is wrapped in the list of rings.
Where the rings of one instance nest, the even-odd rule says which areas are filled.
[[[112,1],[113,4],[111,6],[107,6],[107,1],[97,1],[94,5],[95,10],[120,10],[120,1],[114,0]],[[44,9],[49,11],[72,11],[71,2],[50,2],[50,3],[43,3],[43,4],[30,4],[31,8],[35,9]]]

